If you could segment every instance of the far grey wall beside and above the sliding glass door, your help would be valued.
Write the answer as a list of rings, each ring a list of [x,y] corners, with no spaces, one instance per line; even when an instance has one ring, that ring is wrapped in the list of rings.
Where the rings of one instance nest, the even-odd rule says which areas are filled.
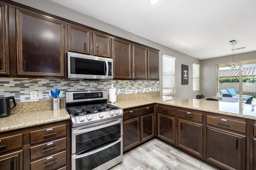
[[[244,60],[251,60],[251,59],[256,59],[256,51],[242,53],[242,54],[235,54],[235,61],[242,61],[242,60],[244,61]],[[201,60],[200,87],[201,87],[201,92],[204,94],[204,96],[211,97],[211,96],[215,96],[217,93],[216,64],[229,63],[231,60],[232,60],[231,55]]]

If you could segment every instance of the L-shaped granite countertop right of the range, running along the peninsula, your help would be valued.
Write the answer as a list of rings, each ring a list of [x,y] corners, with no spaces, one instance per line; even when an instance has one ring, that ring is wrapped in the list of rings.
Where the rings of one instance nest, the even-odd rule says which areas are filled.
[[[117,103],[111,103],[122,109],[158,103],[163,105],[170,105],[175,107],[183,107],[187,109],[194,109],[210,113],[218,113],[222,115],[229,115],[234,117],[242,117],[246,119],[256,120],[255,105],[247,105],[244,103],[230,103],[221,101],[207,101],[198,99],[183,99],[168,96],[153,96],[144,98],[134,98],[127,100],[120,100]]]

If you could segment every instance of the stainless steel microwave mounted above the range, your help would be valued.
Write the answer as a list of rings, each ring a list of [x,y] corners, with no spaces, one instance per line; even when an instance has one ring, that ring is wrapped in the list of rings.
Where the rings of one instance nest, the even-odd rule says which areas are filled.
[[[68,79],[113,79],[113,59],[68,52]]]

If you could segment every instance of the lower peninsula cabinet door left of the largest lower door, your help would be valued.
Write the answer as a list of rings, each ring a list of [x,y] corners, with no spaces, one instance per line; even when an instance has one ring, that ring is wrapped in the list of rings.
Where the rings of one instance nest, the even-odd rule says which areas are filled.
[[[203,157],[203,125],[178,119],[178,146]]]

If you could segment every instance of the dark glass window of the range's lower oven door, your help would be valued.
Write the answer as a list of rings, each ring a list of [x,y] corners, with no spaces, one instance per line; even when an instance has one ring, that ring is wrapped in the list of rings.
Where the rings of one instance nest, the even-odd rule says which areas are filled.
[[[110,146],[100,152],[76,159],[76,170],[92,170],[121,154],[121,142]],[[113,162],[112,166],[116,163]]]

